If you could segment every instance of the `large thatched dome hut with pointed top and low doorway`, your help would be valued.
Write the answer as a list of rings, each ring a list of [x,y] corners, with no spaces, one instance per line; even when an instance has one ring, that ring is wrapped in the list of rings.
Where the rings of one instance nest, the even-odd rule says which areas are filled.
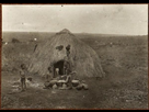
[[[68,45],[70,45],[70,65],[72,70],[77,71],[78,77],[104,76],[101,60],[95,51],[66,29],[56,33],[43,46],[38,45],[30,61],[28,70],[45,75],[48,72],[48,67],[53,65],[54,69],[59,67],[59,72],[62,74],[64,59],[67,56],[66,47]]]

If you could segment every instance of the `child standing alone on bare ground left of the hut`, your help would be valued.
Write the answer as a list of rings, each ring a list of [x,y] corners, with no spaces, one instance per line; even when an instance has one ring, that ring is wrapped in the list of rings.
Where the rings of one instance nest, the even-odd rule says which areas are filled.
[[[20,70],[22,91],[26,90],[26,75],[27,75],[26,66],[25,64],[22,64]]]

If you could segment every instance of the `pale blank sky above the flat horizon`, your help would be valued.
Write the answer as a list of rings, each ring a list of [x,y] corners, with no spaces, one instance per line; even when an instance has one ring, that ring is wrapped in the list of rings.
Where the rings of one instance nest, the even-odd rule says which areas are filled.
[[[148,34],[148,4],[3,4],[2,30]]]

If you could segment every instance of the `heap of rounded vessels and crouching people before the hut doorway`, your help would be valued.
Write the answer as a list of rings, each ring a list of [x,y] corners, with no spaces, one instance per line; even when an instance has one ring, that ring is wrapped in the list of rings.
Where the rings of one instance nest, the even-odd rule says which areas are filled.
[[[89,89],[84,80],[80,81],[77,79],[76,71],[71,71],[68,75],[62,76],[59,75],[56,78],[51,78],[48,74],[44,87],[44,89],[61,89],[61,90],[69,90],[73,88],[77,90]]]

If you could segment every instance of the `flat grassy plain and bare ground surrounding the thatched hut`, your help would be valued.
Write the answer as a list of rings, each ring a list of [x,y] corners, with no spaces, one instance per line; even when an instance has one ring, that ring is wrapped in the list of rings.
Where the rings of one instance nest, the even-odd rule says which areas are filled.
[[[76,34],[98,53],[104,78],[87,78],[89,90],[78,91],[45,90],[45,79],[33,76],[35,86],[28,86],[25,92],[12,92],[13,82],[20,78],[20,65],[30,61],[37,43],[50,40],[54,34],[3,33],[2,109],[148,109],[147,35]]]

